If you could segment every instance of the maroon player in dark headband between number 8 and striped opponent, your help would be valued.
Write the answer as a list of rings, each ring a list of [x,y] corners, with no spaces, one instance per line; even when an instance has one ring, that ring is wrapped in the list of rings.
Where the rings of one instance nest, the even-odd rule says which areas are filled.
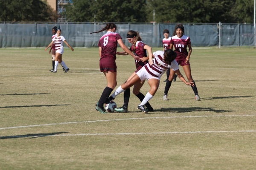
[[[152,48],[145,43],[142,42],[140,34],[138,31],[130,30],[126,34],[126,38],[129,43],[132,44],[130,50],[134,53],[134,55],[140,57],[140,61],[135,61],[136,71],[128,78],[128,80],[133,77],[145,64],[148,63],[148,56],[152,58]],[[148,51],[148,56],[147,56]],[[125,51],[123,52],[116,52],[118,55],[128,55]],[[137,96],[140,101],[143,101],[144,95],[140,92],[141,87],[143,86],[145,80],[138,82],[134,85],[133,94]],[[124,104],[120,108],[115,108],[115,111],[118,112],[127,112],[128,111],[128,103],[130,99],[130,88],[126,89],[124,92]],[[149,111],[154,111],[149,103],[146,103],[145,106]]]

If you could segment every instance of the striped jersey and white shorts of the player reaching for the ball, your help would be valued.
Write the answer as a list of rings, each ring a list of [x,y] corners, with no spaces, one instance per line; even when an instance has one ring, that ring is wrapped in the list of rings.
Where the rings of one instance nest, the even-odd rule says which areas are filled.
[[[165,71],[169,68],[172,68],[173,71],[179,69],[179,65],[176,60],[171,62],[171,65],[166,64],[163,61],[164,51],[155,51],[153,53],[153,65],[149,65],[147,63],[140,69],[136,74],[140,77],[140,80],[143,81],[145,79],[159,79],[165,73]]]

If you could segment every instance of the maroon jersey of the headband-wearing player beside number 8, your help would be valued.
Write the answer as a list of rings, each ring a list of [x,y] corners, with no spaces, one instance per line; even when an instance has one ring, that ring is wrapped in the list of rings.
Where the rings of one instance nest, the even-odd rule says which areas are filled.
[[[147,56],[147,51],[144,49],[145,44],[142,41],[137,41],[135,44],[135,49],[134,46],[132,45],[130,50],[134,53],[134,55],[143,58],[143,57],[148,57]],[[148,61],[142,62],[142,61],[135,61],[136,68],[142,68],[145,64],[147,64]],[[138,71],[138,70],[137,70]]]

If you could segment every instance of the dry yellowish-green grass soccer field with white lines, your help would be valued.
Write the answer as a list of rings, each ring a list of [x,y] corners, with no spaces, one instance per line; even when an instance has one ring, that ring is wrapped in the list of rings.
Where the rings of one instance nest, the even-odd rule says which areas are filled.
[[[98,48],[65,48],[68,73],[49,72],[44,49],[0,48],[0,170],[254,170],[255,54],[193,48],[201,101],[180,79],[163,101],[164,74],[150,101],[155,112],[139,112],[131,94],[128,113],[101,114]],[[118,87],[135,65],[131,56],[116,63]],[[148,90],[145,82],[141,92]],[[115,102],[121,106],[123,95]]]

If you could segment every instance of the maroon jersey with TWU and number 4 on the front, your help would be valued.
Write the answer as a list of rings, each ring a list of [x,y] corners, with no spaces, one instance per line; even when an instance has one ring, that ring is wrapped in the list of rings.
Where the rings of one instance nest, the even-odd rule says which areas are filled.
[[[176,60],[186,59],[188,56],[187,46],[191,44],[190,38],[186,35],[183,35],[181,38],[175,35],[171,39],[171,44],[173,44],[174,51],[177,53]]]

